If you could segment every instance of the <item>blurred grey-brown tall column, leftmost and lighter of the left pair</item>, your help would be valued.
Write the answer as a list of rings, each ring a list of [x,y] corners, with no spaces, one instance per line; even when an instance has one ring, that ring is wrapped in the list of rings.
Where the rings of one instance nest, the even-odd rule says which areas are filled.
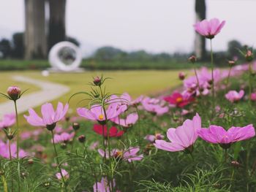
[[[45,0],[25,0],[25,17],[25,58],[45,58],[47,55]]]

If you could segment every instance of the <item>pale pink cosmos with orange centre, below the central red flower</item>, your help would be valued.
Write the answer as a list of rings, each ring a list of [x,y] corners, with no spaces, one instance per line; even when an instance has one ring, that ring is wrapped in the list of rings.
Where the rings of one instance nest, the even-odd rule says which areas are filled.
[[[127,150],[118,150],[118,149],[113,149],[110,152],[110,155],[108,151],[99,149],[99,155],[102,157],[106,156],[106,158],[114,157],[114,158],[121,158],[124,161],[128,161],[131,163],[132,161],[140,161],[143,158],[143,155],[138,155],[137,153],[139,152],[140,147],[129,147]]]

